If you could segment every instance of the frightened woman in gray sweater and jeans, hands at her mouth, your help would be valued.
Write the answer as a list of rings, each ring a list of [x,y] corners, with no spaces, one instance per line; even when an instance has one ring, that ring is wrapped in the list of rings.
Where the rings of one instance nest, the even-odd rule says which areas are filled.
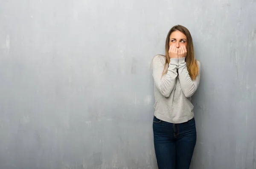
[[[159,169],[189,169],[196,143],[191,96],[198,89],[200,62],[192,37],[174,26],[166,37],[166,55],[152,60],[154,78],[154,149]]]

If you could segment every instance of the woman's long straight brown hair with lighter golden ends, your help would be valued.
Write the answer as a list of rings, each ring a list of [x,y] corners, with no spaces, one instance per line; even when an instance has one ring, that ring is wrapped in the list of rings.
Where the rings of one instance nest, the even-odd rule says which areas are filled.
[[[198,65],[197,65],[195,57],[194,57],[193,41],[192,41],[192,37],[191,37],[191,34],[190,34],[189,30],[186,29],[186,27],[181,26],[181,25],[173,26],[167,34],[166,45],[165,45],[166,62],[165,62],[165,66],[164,66],[162,75],[167,73],[167,68],[168,68],[169,63],[170,63],[169,41],[170,41],[170,35],[172,34],[172,32],[175,32],[175,31],[180,31],[180,32],[182,32],[183,34],[186,35],[186,38],[187,38],[187,47],[186,47],[187,54],[186,54],[185,61],[186,61],[187,69],[188,69],[188,72],[189,72],[189,76],[191,77],[192,80],[194,80],[195,77],[198,75]]]

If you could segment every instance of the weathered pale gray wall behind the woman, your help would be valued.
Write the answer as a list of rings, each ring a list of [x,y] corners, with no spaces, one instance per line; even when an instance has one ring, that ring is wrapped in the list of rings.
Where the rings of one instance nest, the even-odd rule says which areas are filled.
[[[256,169],[255,0],[0,0],[0,169],[155,169],[150,62],[202,64],[192,169]]]

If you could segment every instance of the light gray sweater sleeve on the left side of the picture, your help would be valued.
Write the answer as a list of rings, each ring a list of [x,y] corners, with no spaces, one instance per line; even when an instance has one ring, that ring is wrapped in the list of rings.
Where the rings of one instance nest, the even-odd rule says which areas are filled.
[[[164,62],[161,56],[154,57],[152,66],[155,86],[164,97],[169,97],[176,84],[178,59],[171,58],[167,73],[163,77]]]

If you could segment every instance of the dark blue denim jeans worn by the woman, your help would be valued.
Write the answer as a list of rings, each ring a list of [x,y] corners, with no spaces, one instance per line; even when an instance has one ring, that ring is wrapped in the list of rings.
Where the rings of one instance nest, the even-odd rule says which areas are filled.
[[[158,169],[189,169],[196,143],[195,118],[185,123],[153,119]]]

